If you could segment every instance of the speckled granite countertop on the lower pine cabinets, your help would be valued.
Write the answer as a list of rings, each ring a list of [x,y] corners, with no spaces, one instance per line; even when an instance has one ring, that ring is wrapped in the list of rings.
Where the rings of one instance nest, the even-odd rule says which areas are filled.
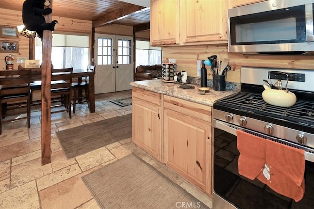
[[[209,92],[206,92],[205,95],[201,95],[199,90],[197,89],[198,87],[201,87],[200,85],[188,84],[194,86],[195,88],[182,89],[179,88],[180,84],[163,82],[162,79],[134,81],[131,82],[130,85],[140,89],[145,89],[148,91],[161,93],[164,95],[173,96],[176,98],[209,106],[212,106],[213,103],[218,99],[240,91],[240,86],[238,84],[226,85],[225,91],[215,91],[213,90],[212,86],[208,86],[210,88]]]

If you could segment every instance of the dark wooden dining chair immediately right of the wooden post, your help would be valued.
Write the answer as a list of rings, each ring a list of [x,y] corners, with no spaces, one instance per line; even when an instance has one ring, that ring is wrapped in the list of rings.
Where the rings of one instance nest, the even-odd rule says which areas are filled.
[[[70,119],[72,72],[73,68],[52,69],[50,84],[51,113],[67,111]]]

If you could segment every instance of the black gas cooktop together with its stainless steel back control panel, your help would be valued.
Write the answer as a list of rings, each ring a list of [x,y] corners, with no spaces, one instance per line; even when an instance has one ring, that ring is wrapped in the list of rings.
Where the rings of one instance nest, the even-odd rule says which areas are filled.
[[[263,80],[269,79],[267,72],[270,70],[284,71],[291,77],[288,89],[297,97],[293,106],[274,106],[267,104],[262,98]],[[242,67],[241,92],[216,101],[213,109],[314,133],[313,73],[313,70]],[[298,79],[299,77],[302,79]]]

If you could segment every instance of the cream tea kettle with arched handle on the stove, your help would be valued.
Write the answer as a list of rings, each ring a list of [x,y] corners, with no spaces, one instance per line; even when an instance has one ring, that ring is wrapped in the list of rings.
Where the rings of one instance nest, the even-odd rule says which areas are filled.
[[[271,76],[270,73],[275,73],[275,74],[284,74],[287,76],[287,82],[286,86],[284,89],[282,89],[281,86],[281,80],[278,79],[276,82],[276,85],[278,86],[278,89],[271,89],[268,88],[269,85],[264,85],[265,90],[262,92],[262,98],[264,101],[268,104],[279,106],[279,107],[291,107],[296,103],[296,96],[294,93],[290,92],[287,89],[287,84],[289,80],[289,76],[287,73],[283,72],[277,72],[277,71],[270,71],[268,72],[268,77],[270,78],[270,83],[271,83]],[[272,84],[271,84],[272,85]],[[265,87],[266,86],[266,87]]]

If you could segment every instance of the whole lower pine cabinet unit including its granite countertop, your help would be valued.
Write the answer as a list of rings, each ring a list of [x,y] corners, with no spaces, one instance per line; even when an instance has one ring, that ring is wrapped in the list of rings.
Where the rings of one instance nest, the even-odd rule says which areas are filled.
[[[212,105],[239,91],[214,91],[201,95],[194,89],[161,79],[131,82],[133,142],[212,195]]]

